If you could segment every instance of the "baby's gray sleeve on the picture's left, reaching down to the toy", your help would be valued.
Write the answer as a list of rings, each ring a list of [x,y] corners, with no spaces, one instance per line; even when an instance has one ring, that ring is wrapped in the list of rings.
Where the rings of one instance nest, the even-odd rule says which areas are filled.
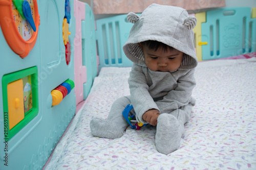
[[[131,103],[136,112],[137,120],[140,120],[143,124],[146,122],[143,120],[142,115],[150,109],[157,109],[157,104],[152,99],[152,96],[148,92],[148,85],[146,83],[145,75],[142,71],[142,66],[133,64],[132,71],[130,72],[130,78],[128,79]]]

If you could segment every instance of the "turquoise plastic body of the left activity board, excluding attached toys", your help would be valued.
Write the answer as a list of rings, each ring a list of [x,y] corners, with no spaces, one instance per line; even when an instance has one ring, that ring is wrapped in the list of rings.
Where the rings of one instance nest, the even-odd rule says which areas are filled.
[[[16,55],[7,44],[0,29],[0,169],[42,169],[61,135],[68,127],[76,110],[74,89],[57,106],[52,105],[51,90],[67,79],[74,81],[74,52],[66,64],[62,22],[65,0],[37,1],[40,25],[35,46],[24,59]],[[69,0],[71,18],[69,43],[74,46],[75,19],[73,0]],[[30,67],[37,67],[38,114],[8,140],[4,150],[3,87],[4,75]],[[32,93],[33,95],[33,93]],[[34,101],[33,101],[34,102]],[[4,156],[8,154],[8,166]]]

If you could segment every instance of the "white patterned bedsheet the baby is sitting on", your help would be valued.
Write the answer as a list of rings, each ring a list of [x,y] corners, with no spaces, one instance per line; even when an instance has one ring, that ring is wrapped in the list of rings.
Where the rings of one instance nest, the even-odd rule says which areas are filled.
[[[106,118],[129,95],[131,68],[102,68],[46,169],[256,169],[256,60],[217,60],[196,69],[197,100],[180,148],[157,152],[154,127],[126,129],[118,139],[94,137],[92,117]]]

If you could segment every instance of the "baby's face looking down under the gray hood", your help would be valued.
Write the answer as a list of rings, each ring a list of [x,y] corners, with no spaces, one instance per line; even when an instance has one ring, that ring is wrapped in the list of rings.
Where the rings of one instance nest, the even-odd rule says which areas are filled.
[[[152,71],[175,71],[182,62],[183,53],[178,50],[164,51],[158,48],[157,51],[142,46],[146,66]]]

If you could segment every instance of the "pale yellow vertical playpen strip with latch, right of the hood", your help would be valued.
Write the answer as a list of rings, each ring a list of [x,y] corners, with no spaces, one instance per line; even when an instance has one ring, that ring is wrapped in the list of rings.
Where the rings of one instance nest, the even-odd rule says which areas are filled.
[[[196,38],[196,48],[197,48],[197,59],[202,61],[202,45],[207,45],[207,42],[202,42],[202,23],[206,22],[205,12],[197,13],[197,25],[193,29]]]

